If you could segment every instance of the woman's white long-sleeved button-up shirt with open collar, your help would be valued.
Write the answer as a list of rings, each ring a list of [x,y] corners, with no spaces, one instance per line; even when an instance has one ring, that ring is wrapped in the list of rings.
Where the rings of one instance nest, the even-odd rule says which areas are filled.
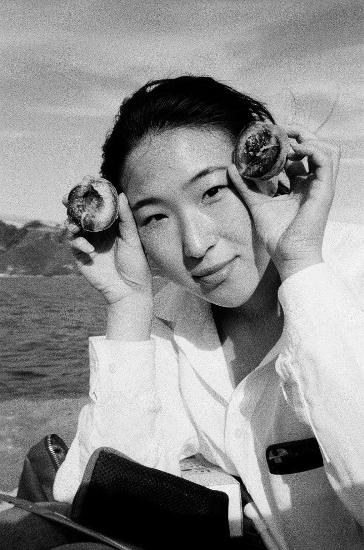
[[[328,224],[323,256],[280,286],[282,337],[237,387],[211,306],[172,283],[150,341],[90,338],[90,404],[56,499],[103,445],[176,475],[200,452],[242,478],[272,548],[364,549],[364,227]],[[311,437],[323,467],[269,473],[268,445]]]

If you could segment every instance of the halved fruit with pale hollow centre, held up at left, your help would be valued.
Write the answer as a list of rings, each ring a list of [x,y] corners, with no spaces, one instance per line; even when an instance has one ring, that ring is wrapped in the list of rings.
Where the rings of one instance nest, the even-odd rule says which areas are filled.
[[[86,175],[68,195],[67,215],[88,232],[108,229],[117,219],[118,210],[117,190],[107,179]]]

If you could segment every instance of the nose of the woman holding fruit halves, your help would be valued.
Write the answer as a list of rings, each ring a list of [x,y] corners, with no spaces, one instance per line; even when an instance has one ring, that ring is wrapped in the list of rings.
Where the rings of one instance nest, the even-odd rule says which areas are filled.
[[[200,212],[186,213],[183,220],[183,251],[185,256],[201,258],[216,244],[213,223]]]

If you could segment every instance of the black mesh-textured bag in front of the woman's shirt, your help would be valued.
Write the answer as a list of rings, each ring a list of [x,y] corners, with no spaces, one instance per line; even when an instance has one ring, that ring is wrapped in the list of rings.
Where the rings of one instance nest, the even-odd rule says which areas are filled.
[[[71,518],[148,549],[227,548],[229,498],[107,447],[87,463]]]

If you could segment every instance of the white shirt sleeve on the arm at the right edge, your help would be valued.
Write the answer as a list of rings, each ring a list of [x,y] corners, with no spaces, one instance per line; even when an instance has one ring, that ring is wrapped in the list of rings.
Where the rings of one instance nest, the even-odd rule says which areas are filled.
[[[358,297],[325,263],[279,289],[289,344],[276,370],[289,404],[310,423],[330,483],[364,518],[364,314]]]

